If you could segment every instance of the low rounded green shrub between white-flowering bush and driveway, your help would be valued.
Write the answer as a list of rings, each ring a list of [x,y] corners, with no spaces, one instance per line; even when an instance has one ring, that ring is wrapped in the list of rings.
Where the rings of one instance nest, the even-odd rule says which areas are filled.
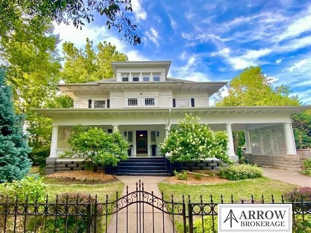
[[[220,168],[220,177],[230,181],[258,178],[261,176],[262,169],[256,165],[241,164]]]

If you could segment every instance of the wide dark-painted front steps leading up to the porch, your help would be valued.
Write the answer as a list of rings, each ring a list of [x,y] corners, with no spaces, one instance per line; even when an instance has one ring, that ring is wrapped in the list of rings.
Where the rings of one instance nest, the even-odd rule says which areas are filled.
[[[120,162],[116,175],[128,176],[171,176],[169,162],[163,157],[133,157]]]

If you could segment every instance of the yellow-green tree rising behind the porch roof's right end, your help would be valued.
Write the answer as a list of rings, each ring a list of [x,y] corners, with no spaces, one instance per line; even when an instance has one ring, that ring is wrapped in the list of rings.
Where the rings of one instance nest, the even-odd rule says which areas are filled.
[[[218,92],[216,106],[284,106],[300,105],[298,96],[290,96],[289,86],[273,87],[271,79],[264,75],[261,67],[245,68],[228,84],[228,95],[222,97]],[[243,132],[233,131],[235,152],[239,154],[245,145]]]

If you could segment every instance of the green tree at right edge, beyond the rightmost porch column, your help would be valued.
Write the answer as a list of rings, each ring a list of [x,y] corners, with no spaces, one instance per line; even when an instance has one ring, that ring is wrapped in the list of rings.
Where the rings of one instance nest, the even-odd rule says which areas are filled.
[[[293,116],[293,130],[296,148],[311,148],[311,111],[304,111]]]

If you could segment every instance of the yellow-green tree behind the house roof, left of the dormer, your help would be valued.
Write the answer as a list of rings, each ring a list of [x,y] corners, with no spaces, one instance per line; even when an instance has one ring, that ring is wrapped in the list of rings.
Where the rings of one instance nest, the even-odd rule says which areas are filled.
[[[110,43],[99,43],[98,52],[93,49],[93,43],[86,38],[85,49],[77,49],[73,43],[65,42],[64,68],[60,77],[66,83],[86,83],[113,77],[112,61],[127,61],[124,53],[119,52]]]

